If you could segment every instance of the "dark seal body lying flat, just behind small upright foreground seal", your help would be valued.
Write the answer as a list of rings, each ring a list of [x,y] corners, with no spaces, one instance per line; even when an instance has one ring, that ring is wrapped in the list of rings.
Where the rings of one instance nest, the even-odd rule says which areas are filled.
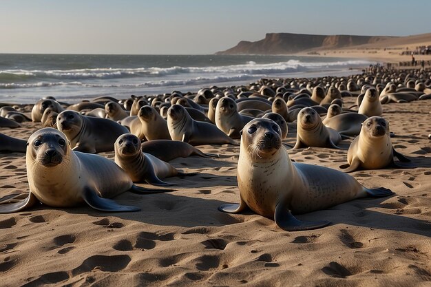
[[[218,158],[217,154],[203,153],[196,147],[180,140],[150,140],[141,145],[144,153],[150,153],[159,160],[169,162],[175,158],[187,158],[189,156],[200,156],[202,158]]]

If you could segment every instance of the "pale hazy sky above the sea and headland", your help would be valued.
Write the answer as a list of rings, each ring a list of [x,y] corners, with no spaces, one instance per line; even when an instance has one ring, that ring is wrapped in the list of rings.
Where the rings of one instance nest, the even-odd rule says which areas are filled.
[[[431,32],[429,0],[0,0],[0,53],[213,54],[270,32]]]

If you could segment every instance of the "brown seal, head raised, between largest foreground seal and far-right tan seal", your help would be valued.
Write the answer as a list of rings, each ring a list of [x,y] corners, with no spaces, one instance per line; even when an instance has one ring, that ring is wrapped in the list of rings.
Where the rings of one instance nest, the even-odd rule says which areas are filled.
[[[301,147],[337,147],[337,143],[341,141],[341,136],[338,131],[325,127],[322,123],[322,118],[311,107],[301,109],[297,118],[297,138],[293,149]]]

